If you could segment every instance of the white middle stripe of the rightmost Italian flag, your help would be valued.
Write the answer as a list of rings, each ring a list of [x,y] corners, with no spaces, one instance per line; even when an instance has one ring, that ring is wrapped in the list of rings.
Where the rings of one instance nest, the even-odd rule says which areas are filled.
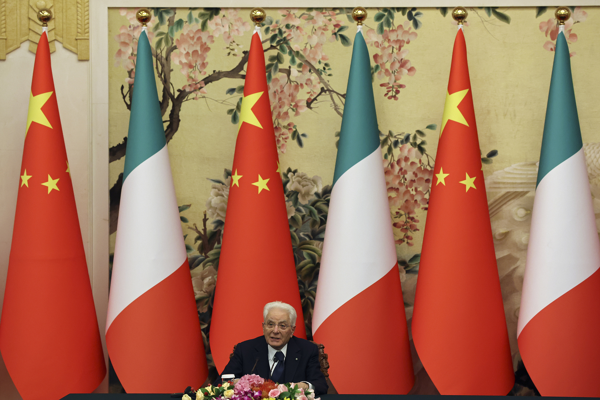
[[[600,242],[583,148],[535,191],[517,336],[545,306],[600,267]]]

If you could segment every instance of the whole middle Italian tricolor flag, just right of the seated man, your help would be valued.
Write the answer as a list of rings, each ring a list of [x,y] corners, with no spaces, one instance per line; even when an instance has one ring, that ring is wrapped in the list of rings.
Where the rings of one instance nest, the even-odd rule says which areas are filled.
[[[338,393],[406,395],[414,382],[412,359],[371,65],[360,28],[335,160],[313,335],[329,354],[329,377]],[[385,385],[360,384],[373,371],[385,375]]]

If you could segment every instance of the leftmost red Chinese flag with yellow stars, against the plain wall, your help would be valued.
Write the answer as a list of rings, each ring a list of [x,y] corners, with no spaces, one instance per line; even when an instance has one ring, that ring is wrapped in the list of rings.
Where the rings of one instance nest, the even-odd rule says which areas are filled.
[[[92,392],[106,366],[45,32],[25,135],[0,351],[23,399],[53,400]]]

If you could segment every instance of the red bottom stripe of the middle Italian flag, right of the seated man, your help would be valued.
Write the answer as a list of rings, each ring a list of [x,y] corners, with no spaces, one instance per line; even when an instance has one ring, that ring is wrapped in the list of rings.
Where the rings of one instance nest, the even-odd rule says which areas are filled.
[[[314,341],[325,345],[338,393],[406,395],[415,376],[398,264],[329,315]],[[374,373],[385,384],[366,384]]]

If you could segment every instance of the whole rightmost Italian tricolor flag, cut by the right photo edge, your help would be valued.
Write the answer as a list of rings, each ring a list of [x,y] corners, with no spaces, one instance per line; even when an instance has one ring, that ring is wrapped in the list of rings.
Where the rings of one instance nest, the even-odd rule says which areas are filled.
[[[559,33],[517,326],[542,396],[600,396],[600,243],[571,79]]]

